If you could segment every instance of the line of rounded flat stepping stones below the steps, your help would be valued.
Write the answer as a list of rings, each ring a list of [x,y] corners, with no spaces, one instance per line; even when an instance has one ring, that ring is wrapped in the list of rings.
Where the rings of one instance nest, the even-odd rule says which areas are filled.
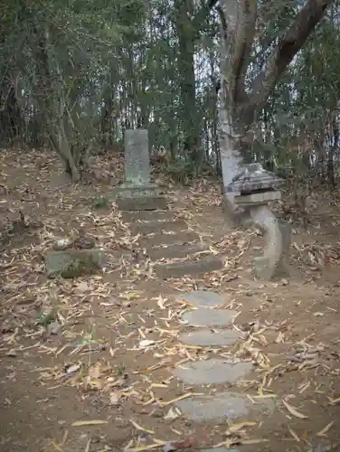
[[[237,312],[223,309],[223,306],[227,305],[224,297],[213,292],[197,290],[181,294],[180,299],[188,302],[194,309],[182,315],[184,325],[189,325],[193,329],[190,333],[180,334],[179,339],[184,344],[227,347],[241,339],[241,334],[237,330],[226,329],[232,327],[232,320]],[[212,386],[216,384],[234,384],[244,378],[247,379],[251,371],[250,362],[232,363],[216,357],[185,363],[174,370],[174,375],[184,381],[184,384],[200,385],[199,390],[194,388],[194,392],[203,392],[211,391]],[[237,419],[242,416],[249,417],[254,413],[268,415],[275,408],[272,400],[260,400],[253,404],[241,393],[232,391],[213,391],[213,394],[179,400],[175,402],[175,406],[186,418],[196,422]]]

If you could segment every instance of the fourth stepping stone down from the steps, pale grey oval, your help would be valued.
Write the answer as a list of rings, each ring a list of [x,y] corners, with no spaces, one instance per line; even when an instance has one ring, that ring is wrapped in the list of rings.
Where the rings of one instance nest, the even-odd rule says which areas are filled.
[[[251,368],[251,363],[211,359],[183,364],[175,369],[174,375],[186,384],[232,384],[247,375]]]

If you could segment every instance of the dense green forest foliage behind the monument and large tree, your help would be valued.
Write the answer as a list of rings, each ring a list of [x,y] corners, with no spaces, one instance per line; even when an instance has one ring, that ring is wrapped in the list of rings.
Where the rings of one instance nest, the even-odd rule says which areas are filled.
[[[259,0],[249,85],[300,4]],[[174,180],[185,183],[212,162],[218,171],[220,29],[207,3],[14,0],[0,14],[0,120],[21,139],[58,147],[62,132],[80,165],[90,144],[110,145],[124,127],[143,126],[151,146],[172,155],[162,170]],[[330,149],[339,121],[339,28],[335,4],[260,112],[250,157],[304,171],[301,155],[316,138]]]

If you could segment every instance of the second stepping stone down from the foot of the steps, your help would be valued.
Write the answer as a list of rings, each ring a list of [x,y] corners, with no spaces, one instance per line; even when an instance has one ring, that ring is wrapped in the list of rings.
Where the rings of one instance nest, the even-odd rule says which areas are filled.
[[[182,319],[191,326],[229,326],[235,315],[238,315],[237,311],[200,307],[193,311],[186,311]]]

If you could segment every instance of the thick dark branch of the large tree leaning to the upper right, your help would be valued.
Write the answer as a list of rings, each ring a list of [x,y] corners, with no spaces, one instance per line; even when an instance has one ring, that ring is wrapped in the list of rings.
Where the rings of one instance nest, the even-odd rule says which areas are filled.
[[[288,29],[271,52],[267,69],[261,72],[252,83],[250,106],[255,111],[260,110],[279,77],[287,69],[297,52],[307,41],[316,25],[324,17],[326,7],[335,0],[308,0],[307,4],[297,14],[294,24]]]

